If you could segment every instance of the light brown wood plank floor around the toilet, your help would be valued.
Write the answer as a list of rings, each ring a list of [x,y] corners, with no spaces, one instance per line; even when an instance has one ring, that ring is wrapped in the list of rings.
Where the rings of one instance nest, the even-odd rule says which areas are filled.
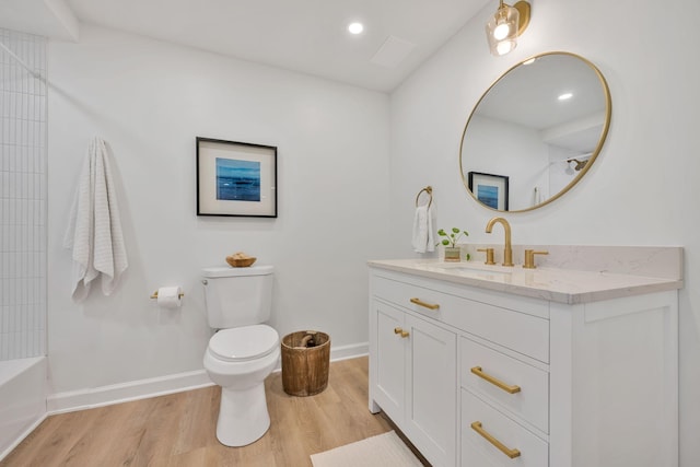
[[[368,359],[334,362],[328,387],[310,397],[266,380],[270,430],[244,447],[215,437],[218,386],[47,418],[0,467],[311,466],[310,455],[393,430],[368,410]]]

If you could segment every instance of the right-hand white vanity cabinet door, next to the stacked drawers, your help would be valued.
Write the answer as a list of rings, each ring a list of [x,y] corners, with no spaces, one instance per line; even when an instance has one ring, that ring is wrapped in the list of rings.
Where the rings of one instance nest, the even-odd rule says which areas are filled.
[[[457,337],[454,332],[411,315],[405,328],[406,434],[436,466],[456,460]]]

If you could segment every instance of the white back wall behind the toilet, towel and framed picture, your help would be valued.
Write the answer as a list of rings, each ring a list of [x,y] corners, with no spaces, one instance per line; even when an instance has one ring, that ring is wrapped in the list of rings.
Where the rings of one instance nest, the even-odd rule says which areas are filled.
[[[275,265],[271,324],[366,342],[366,267],[388,232],[388,96],[108,30],[49,50],[52,393],[201,370],[199,271],[245,250]],[[112,296],[70,300],[61,247],[89,138],[113,153],[129,268]],[[198,218],[195,137],[278,147],[279,217]],[[149,295],[182,284],[183,307]]]

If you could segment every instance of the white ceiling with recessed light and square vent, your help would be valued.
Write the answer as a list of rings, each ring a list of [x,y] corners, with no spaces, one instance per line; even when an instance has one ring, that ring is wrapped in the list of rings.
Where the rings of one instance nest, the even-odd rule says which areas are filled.
[[[488,3],[495,11],[495,0],[1,0],[0,27],[75,39],[92,23],[388,92]]]

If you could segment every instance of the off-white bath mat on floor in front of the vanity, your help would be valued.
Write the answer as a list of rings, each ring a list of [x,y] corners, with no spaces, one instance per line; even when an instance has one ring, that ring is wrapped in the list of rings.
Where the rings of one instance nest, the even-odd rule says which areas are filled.
[[[312,454],[314,467],[422,467],[423,465],[404,444],[400,437],[389,431],[357,443],[346,444],[335,450]]]

